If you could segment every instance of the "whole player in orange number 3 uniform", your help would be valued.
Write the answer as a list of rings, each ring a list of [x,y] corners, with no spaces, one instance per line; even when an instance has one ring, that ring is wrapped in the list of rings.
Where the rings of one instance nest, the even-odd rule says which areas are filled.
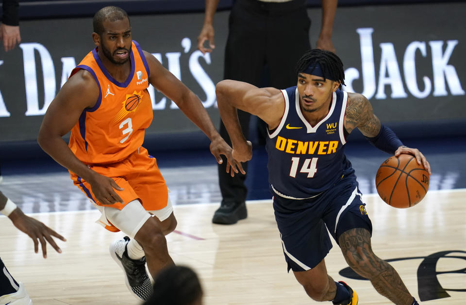
[[[231,147],[199,98],[132,40],[125,11],[104,7],[93,24],[96,48],[51,102],[38,142],[69,170],[74,184],[100,210],[98,223],[129,236],[112,243],[110,252],[133,295],[146,300],[152,288],[146,260],[152,277],[173,264],[164,235],[176,227],[165,180],[155,158],[141,146],[152,121],[149,84],[173,100],[209,137],[217,162],[224,154],[232,175],[244,170],[231,158]],[[70,130],[67,145],[62,136]]]

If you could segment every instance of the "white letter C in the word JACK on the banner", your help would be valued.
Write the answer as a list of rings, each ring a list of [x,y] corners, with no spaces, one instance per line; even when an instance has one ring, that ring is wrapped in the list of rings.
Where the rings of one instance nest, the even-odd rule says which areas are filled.
[[[416,79],[416,49],[421,51],[422,56],[426,57],[426,43],[420,41],[413,41],[408,45],[406,51],[404,52],[403,58],[403,70],[404,70],[404,79],[406,81],[406,87],[408,87],[409,92],[417,98],[424,98],[431,93],[432,83],[431,80],[424,76],[424,91],[419,91],[417,87]]]

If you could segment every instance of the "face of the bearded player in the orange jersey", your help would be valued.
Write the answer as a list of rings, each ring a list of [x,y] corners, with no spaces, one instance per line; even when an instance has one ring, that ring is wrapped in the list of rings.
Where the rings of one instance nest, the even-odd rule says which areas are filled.
[[[100,36],[99,48],[104,56],[116,65],[125,64],[130,59],[131,26],[128,18],[103,22],[105,29]]]

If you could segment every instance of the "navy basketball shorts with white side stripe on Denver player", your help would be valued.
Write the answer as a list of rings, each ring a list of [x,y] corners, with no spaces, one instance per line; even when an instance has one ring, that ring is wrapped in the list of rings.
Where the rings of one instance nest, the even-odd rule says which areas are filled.
[[[372,234],[361,195],[354,174],[342,177],[314,198],[298,200],[274,195],[273,209],[288,272],[316,267],[332,249],[329,232],[337,243],[343,232],[353,228],[366,228]]]

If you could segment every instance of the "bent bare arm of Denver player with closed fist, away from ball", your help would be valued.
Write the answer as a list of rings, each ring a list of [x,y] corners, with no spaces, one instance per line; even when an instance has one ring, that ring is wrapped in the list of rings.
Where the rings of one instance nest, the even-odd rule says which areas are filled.
[[[251,145],[241,130],[237,109],[259,116],[268,128],[276,128],[285,110],[282,92],[242,81],[222,80],[216,85],[216,96],[218,111],[232,140],[233,158],[241,162],[250,160]]]

